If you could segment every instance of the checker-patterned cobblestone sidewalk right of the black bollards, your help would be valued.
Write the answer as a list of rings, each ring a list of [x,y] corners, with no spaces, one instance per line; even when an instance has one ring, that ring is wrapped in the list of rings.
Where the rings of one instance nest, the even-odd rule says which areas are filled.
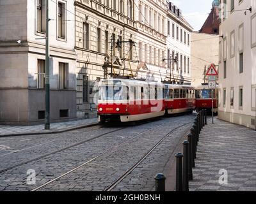
[[[209,121],[200,135],[190,191],[256,191],[255,146],[253,129],[219,119],[215,124]],[[221,185],[225,170],[227,184]]]

